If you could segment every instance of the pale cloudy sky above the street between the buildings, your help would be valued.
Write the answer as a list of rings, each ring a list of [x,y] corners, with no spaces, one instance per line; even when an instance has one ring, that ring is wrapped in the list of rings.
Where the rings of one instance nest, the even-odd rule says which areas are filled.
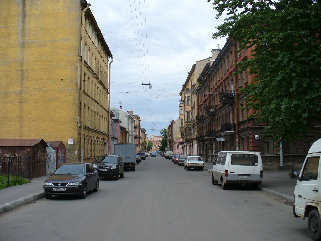
[[[87,0],[114,56],[110,107],[133,110],[150,135],[179,116],[179,92],[196,61],[226,38],[213,39],[216,11],[206,0]],[[149,86],[152,85],[152,89]]]

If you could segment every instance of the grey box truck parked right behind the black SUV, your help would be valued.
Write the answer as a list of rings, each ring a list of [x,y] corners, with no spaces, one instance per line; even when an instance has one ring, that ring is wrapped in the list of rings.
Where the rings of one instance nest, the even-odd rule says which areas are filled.
[[[136,144],[115,144],[115,155],[123,159],[125,169],[135,171]]]

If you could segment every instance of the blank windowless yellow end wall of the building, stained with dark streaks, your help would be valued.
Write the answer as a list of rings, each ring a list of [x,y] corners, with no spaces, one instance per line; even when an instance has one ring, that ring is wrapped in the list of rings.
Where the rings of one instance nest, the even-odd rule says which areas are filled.
[[[61,140],[73,161],[80,1],[0,1],[0,8],[0,137]]]

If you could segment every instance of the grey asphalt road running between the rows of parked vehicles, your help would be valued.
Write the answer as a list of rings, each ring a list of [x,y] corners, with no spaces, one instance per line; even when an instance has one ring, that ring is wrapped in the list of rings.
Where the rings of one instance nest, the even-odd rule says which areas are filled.
[[[262,191],[212,185],[159,155],[86,199],[53,197],[0,216],[0,241],[311,240],[307,220]]]

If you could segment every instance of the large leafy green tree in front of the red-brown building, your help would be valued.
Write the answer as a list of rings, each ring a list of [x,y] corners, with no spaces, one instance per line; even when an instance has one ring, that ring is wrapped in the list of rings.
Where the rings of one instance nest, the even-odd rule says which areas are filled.
[[[211,2],[211,0],[207,0]],[[256,122],[272,139],[294,142],[321,117],[321,2],[313,0],[214,0],[213,38],[229,35],[239,49],[253,48],[238,64],[255,82],[241,91]]]

